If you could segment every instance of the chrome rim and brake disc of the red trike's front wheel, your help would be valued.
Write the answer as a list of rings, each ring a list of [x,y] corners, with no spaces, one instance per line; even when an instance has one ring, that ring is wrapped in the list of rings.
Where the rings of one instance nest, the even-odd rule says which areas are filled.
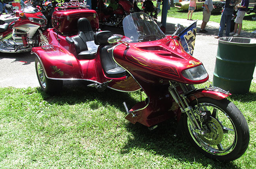
[[[210,111],[209,122],[203,127],[209,133],[200,135],[193,130],[193,125],[188,119],[188,130],[196,144],[204,151],[217,156],[229,154],[237,143],[237,132],[231,118],[221,108],[211,103],[200,103],[194,108],[194,114],[200,111]],[[199,110],[199,111],[198,111]]]

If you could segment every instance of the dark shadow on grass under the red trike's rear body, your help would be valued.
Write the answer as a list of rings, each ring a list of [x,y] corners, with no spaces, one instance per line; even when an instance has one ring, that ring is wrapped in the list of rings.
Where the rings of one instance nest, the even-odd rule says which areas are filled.
[[[118,92],[111,89],[106,89],[103,92],[98,92],[96,88],[88,87],[90,82],[87,81],[64,81],[63,90],[59,94],[49,95],[37,88],[38,92],[43,96],[43,99],[50,104],[58,105],[75,105],[86,101],[98,100],[103,106],[114,105],[120,111],[125,112],[123,102],[125,101],[128,107],[136,104],[136,99],[132,98],[128,93]]]

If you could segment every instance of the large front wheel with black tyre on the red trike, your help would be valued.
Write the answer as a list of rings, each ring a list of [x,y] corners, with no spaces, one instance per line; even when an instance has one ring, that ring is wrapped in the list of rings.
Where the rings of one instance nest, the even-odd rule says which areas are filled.
[[[201,97],[190,105],[202,130],[206,131],[201,134],[195,130],[184,114],[185,132],[196,149],[220,161],[232,161],[244,154],[249,143],[249,129],[245,117],[232,102]],[[207,114],[207,121],[203,121],[202,114]]]

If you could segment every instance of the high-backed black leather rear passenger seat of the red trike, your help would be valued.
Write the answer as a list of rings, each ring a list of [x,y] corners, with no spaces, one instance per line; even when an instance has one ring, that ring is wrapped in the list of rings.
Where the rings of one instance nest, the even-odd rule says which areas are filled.
[[[94,59],[96,56],[96,50],[88,50],[87,42],[94,41],[94,31],[90,25],[90,21],[87,18],[79,18],[77,20],[78,35],[73,37],[66,37],[69,43],[75,45],[75,50],[78,59]]]

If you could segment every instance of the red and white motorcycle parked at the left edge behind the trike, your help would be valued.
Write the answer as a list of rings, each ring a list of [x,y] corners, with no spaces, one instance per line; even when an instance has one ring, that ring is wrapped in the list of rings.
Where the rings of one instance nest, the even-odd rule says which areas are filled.
[[[19,17],[17,20],[0,25],[0,52],[27,52],[32,47],[48,43],[47,31],[44,29],[47,25],[45,16],[32,4],[24,4],[23,0],[19,0],[19,7],[21,10],[13,12],[16,17]],[[7,6],[6,9],[12,11],[11,6]]]

